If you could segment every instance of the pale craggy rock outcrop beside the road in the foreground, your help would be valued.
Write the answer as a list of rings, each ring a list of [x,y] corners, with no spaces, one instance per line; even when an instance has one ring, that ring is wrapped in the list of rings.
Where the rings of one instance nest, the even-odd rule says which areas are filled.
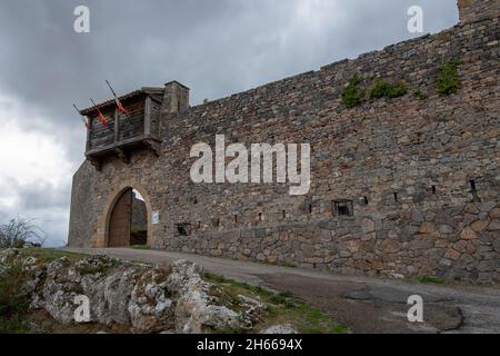
[[[81,300],[86,323],[129,326],[134,333],[214,333],[249,329],[266,305],[241,297],[239,305],[219,305],[218,287],[201,278],[202,269],[178,260],[167,267],[122,263],[94,256],[78,263],[63,257],[48,265],[23,258],[17,250],[0,254],[0,266],[23,265],[32,309],[44,309],[60,324],[77,323]]]

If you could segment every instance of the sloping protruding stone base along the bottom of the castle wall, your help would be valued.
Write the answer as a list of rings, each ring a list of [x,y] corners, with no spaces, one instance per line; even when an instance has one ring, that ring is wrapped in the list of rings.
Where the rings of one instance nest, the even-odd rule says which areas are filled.
[[[174,237],[162,248],[342,274],[498,279],[500,205],[409,210]]]

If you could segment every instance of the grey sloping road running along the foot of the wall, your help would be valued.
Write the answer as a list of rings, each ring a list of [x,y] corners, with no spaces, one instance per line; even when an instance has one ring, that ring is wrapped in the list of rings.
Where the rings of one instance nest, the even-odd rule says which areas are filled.
[[[341,276],[204,256],[126,248],[76,249],[117,258],[168,264],[189,259],[227,278],[289,290],[349,326],[353,333],[496,333],[500,334],[500,288],[430,285],[408,280]],[[423,298],[424,323],[409,323],[408,297]]]

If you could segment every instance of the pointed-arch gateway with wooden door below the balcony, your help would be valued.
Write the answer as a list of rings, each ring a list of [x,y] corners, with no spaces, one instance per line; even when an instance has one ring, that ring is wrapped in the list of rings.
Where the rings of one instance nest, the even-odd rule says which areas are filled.
[[[148,244],[148,210],[142,196],[127,188],[117,199],[108,230],[108,247],[144,246]]]

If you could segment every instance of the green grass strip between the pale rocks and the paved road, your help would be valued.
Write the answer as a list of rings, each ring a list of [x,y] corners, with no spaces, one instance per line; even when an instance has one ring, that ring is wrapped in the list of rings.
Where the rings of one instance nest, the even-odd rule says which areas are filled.
[[[321,310],[294,297],[290,291],[274,293],[260,286],[227,279],[222,276],[206,273],[203,279],[222,290],[216,297],[222,305],[234,304],[239,295],[263,301],[268,308],[262,323],[256,325],[256,332],[272,325],[291,324],[301,334],[346,334],[349,329],[332,322]],[[248,333],[248,330],[227,330],[228,333]]]

